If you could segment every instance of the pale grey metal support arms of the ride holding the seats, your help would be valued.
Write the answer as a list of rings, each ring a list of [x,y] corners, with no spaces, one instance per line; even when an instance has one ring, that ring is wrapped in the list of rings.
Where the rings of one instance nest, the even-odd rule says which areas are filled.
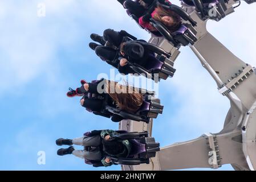
[[[234,12],[236,1],[227,3],[225,14]],[[186,8],[185,8],[186,9]],[[203,67],[216,81],[220,93],[230,100],[231,108],[218,134],[204,134],[188,142],[161,148],[149,165],[122,166],[123,170],[172,170],[187,168],[214,168],[231,164],[235,170],[256,169],[256,75],[247,65],[206,30],[206,20],[196,11],[187,9],[197,22],[198,41],[191,46]],[[152,37],[149,43],[172,53],[172,61],[180,51],[164,38]],[[239,85],[239,86],[238,86]],[[152,134],[152,121],[138,123],[122,121],[120,129],[148,131]]]

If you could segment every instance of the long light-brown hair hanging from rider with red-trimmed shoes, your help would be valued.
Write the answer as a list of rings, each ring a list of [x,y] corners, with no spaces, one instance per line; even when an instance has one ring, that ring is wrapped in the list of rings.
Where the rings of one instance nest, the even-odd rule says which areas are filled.
[[[136,113],[143,104],[143,94],[138,89],[132,86],[119,85],[117,82],[108,82],[107,90],[109,96],[116,102],[116,105],[121,110],[129,113]]]

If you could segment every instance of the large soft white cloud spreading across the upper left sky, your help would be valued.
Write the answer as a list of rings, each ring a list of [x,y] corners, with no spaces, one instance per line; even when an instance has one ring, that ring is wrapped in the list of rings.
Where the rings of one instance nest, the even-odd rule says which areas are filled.
[[[46,5],[44,18],[37,16],[38,3]],[[133,21],[117,1],[110,4],[97,0],[84,3],[71,0],[1,1],[0,19],[0,96],[13,86],[19,88],[41,73],[46,74],[47,67],[58,61],[54,60],[58,49],[72,46],[81,39],[78,37],[81,32],[90,35],[90,30],[96,27],[101,28],[101,32],[105,28],[118,30],[129,26],[125,23],[127,20]],[[80,25],[81,22],[84,24]],[[115,27],[107,27],[109,22]],[[87,28],[81,30],[79,26]],[[145,35],[144,31],[139,32]]]

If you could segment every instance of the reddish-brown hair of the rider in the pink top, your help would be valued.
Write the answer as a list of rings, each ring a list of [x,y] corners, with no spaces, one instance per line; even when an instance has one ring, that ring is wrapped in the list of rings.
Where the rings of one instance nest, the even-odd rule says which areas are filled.
[[[163,16],[170,16],[173,19],[174,22],[173,22],[172,26],[168,26],[164,22],[162,22]],[[165,27],[168,28],[168,30],[170,32],[177,31],[178,28],[181,26],[180,16],[171,10],[164,9],[161,6],[157,6],[156,14],[155,14],[155,16],[153,16],[153,19],[157,20],[158,22],[163,23],[165,25]]]

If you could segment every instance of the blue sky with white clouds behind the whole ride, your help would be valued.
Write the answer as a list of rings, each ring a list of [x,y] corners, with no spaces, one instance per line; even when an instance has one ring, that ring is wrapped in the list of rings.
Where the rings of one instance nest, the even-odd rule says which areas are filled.
[[[45,17],[37,16],[38,3],[46,5]],[[251,35],[255,10],[256,3],[242,2],[221,22],[208,22],[209,32],[251,65],[256,65],[256,36]],[[88,48],[90,34],[102,34],[107,28],[150,38],[115,0],[0,1],[1,170],[120,170],[92,168],[75,156],[58,156],[55,145],[60,137],[118,129],[109,119],[85,111],[79,98],[66,97],[68,88],[76,88],[80,79],[109,75],[111,66]],[[176,75],[159,84],[165,109],[155,119],[153,137],[162,147],[218,133],[230,107],[189,47],[181,48],[175,67]],[[46,165],[38,165],[38,151],[46,152]],[[220,170],[232,168],[226,165]]]

